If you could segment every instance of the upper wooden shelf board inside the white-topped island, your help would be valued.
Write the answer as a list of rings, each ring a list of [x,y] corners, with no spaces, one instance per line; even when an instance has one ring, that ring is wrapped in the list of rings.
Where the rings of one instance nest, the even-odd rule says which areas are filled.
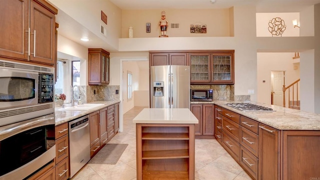
[[[142,140],[188,140],[189,133],[142,132]]]

